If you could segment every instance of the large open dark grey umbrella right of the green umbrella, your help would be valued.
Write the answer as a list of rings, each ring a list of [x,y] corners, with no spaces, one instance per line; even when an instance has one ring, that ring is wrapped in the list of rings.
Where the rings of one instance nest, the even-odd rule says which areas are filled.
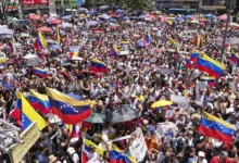
[[[120,122],[130,121],[138,116],[139,116],[138,112],[131,109],[130,105],[121,104],[118,109],[108,114],[105,121],[111,123],[120,123]]]

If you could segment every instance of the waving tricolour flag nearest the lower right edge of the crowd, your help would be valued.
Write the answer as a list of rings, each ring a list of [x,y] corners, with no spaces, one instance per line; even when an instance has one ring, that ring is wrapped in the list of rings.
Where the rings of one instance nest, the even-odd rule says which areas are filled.
[[[232,142],[232,137],[236,129],[236,126],[230,125],[222,118],[213,116],[206,112],[202,113],[199,133],[205,137],[212,137],[214,139],[224,141],[229,146]]]

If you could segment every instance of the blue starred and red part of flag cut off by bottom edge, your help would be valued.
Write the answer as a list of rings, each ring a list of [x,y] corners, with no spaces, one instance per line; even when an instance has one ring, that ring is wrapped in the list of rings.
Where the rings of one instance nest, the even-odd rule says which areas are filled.
[[[128,159],[125,153],[111,150],[110,151],[110,163],[131,163],[131,161]]]

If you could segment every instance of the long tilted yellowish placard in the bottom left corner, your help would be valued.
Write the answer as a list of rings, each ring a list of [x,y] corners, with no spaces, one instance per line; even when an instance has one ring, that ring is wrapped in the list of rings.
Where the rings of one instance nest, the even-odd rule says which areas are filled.
[[[24,130],[20,138],[23,143],[18,143],[11,149],[10,159],[13,163],[22,161],[23,156],[34,146],[37,139],[40,137],[40,131],[36,122],[34,122],[26,130]]]

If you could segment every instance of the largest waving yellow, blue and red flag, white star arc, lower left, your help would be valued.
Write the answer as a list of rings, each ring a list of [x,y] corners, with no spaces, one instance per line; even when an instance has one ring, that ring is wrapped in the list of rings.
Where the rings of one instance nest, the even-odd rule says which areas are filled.
[[[91,115],[91,101],[83,102],[55,89],[46,88],[52,113],[65,124],[78,124]]]

